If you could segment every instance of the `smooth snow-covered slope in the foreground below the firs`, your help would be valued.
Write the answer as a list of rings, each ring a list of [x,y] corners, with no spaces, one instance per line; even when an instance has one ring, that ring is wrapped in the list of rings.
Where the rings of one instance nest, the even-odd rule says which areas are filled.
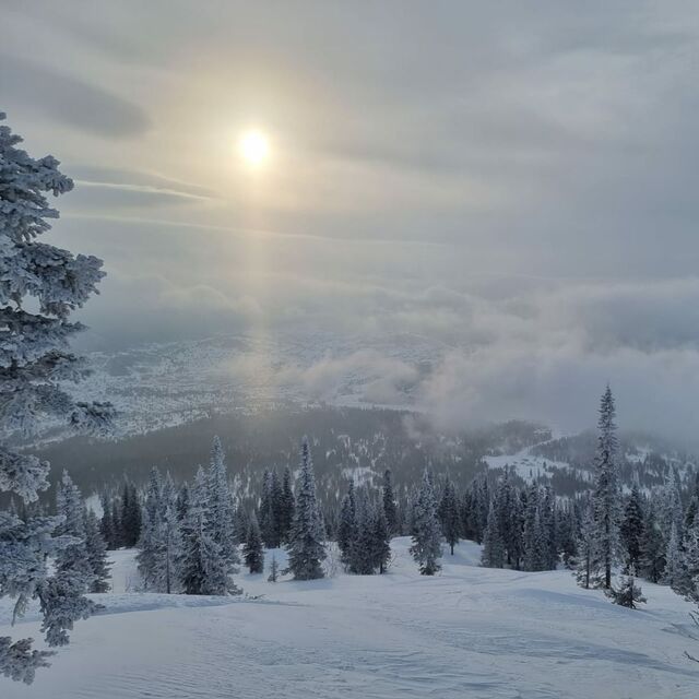
[[[31,687],[0,679],[0,697],[699,697],[699,666],[684,656],[699,653],[690,605],[667,588],[644,584],[647,607],[626,609],[567,571],[478,568],[469,542],[425,578],[407,546],[394,540],[386,576],[240,574],[249,596],[235,600],[129,593],[133,554],[117,552],[115,593],[95,595],[105,612]],[[8,614],[3,600],[0,636]],[[37,626],[12,633],[38,637]]]

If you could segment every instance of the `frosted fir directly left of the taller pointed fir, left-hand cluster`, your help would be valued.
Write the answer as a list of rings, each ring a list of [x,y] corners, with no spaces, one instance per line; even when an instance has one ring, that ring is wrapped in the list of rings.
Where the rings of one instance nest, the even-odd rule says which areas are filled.
[[[228,576],[221,545],[214,541],[209,522],[209,482],[200,466],[190,490],[187,517],[181,523],[181,549],[177,560],[180,584],[186,594],[239,593]]]

